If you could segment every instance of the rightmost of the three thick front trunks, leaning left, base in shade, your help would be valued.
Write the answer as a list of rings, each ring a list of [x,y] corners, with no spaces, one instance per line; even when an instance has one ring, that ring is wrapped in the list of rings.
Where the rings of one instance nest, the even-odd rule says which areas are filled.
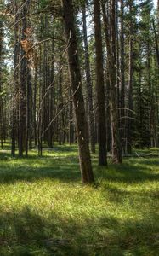
[[[102,1],[102,10],[105,26],[105,41],[108,57],[108,73],[110,78],[111,93],[111,137],[112,137],[112,161],[122,163],[122,150],[119,134],[119,120],[116,96],[116,1],[111,0],[111,32],[109,20],[106,15],[105,1]],[[110,34],[111,33],[111,34]]]

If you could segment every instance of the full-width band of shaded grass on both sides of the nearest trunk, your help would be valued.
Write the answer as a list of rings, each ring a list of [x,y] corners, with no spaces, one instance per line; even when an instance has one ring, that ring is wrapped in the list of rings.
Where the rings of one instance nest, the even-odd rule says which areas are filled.
[[[44,156],[29,159],[12,159],[1,153],[0,183],[14,183],[17,181],[34,182],[38,179],[50,178],[61,183],[80,182],[80,170],[77,159],[56,159]],[[134,160],[135,161],[135,160]],[[99,168],[94,161],[94,175],[96,180],[103,178],[106,181],[117,183],[140,183],[145,180],[159,180],[159,172],[152,172],[149,166],[156,170],[158,160],[139,160],[135,166],[133,160],[127,160],[122,165],[109,165],[108,168]]]

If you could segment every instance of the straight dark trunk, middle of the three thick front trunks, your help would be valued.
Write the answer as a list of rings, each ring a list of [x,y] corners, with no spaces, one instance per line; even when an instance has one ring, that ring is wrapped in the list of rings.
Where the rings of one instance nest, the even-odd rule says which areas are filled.
[[[99,166],[107,166],[106,152],[106,123],[105,123],[105,83],[103,68],[103,50],[100,21],[100,2],[94,0],[94,30],[96,50],[96,90],[98,105],[98,143],[99,143]]]

